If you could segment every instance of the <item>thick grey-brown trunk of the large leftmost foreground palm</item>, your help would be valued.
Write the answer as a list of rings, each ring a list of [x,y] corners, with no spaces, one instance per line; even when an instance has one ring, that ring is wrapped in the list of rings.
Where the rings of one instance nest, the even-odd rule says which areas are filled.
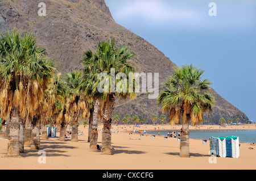
[[[19,107],[13,106],[10,113],[10,133],[7,147],[7,156],[19,156]]]

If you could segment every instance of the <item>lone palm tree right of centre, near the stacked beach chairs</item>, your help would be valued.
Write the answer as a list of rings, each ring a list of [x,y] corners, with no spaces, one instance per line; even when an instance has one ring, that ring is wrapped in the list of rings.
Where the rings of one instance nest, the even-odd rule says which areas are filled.
[[[182,116],[180,137],[180,157],[189,157],[189,122],[193,125],[203,121],[203,113],[212,111],[214,97],[210,94],[208,79],[201,79],[204,71],[193,65],[175,69],[175,73],[165,83],[166,90],[159,95],[170,123],[179,123]]]

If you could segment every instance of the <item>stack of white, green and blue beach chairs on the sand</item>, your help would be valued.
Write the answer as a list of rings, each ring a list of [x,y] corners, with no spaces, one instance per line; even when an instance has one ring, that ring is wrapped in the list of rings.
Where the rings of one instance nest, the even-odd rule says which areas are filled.
[[[239,137],[211,137],[210,151],[217,157],[238,158],[240,155]]]

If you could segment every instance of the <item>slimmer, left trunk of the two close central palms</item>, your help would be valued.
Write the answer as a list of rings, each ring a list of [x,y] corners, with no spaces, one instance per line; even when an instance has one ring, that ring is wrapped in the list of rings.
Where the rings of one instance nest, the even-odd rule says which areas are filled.
[[[100,112],[101,102],[96,99],[94,102],[93,121],[92,121],[92,136],[90,137],[90,149],[97,150],[98,143],[98,113]]]

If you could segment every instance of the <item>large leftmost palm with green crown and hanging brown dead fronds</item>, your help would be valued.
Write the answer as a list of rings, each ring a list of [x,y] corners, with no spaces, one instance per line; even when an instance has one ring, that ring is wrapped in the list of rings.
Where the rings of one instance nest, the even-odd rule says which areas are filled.
[[[27,32],[23,38],[16,31],[0,38],[0,116],[6,119],[10,115],[8,156],[22,153],[24,140],[19,130],[24,130],[26,115],[40,115],[43,92],[53,75],[46,50],[36,43]]]

